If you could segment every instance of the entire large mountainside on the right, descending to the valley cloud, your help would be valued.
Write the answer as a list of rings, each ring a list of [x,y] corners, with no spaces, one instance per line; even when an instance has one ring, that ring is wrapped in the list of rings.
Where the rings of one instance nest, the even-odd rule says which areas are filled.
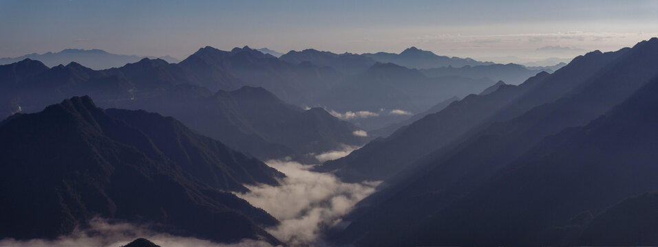
[[[325,163],[343,179],[388,178],[388,187],[366,199],[332,238],[361,246],[655,245],[647,240],[655,231],[641,228],[652,223],[614,210],[625,203],[613,206],[658,189],[649,175],[657,172],[658,158],[652,151],[658,145],[656,52],[658,38],[594,51],[552,75],[466,97]],[[465,118],[478,108],[491,114]],[[469,130],[449,123],[468,123]],[[415,141],[416,150],[405,149],[407,141]],[[418,155],[427,143],[435,149]],[[401,155],[407,161],[395,160]],[[377,157],[376,165],[363,165],[369,156]],[[646,200],[634,203],[644,209]],[[613,226],[607,213],[626,225]],[[608,238],[615,241],[592,237],[593,222],[602,219],[618,227]]]

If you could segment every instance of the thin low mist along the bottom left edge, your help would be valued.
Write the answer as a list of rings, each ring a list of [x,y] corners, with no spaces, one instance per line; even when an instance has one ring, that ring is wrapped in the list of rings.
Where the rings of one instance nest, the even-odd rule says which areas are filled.
[[[136,226],[127,223],[109,223],[101,218],[94,218],[89,222],[91,227],[76,228],[72,234],[61,236],[56,239],[1,239],[0,246],[29,246],[29,247],[119,247],[129,242],[144,237],[153,244],[162,247],[272,247],[267,242],[253,239],[244,239],[235,244],[217,244],[204,239],[194,237],[178,237],[167,233],[156,233],[146,226]]]

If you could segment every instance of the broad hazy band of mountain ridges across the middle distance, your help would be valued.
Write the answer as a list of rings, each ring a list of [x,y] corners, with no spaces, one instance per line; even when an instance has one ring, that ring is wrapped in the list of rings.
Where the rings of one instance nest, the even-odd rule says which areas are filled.
[[[377,63],[365,54],[332,54],[314,49],[290,51],[279,59],[249,47],[231,51],[203,47],[178,64],[145,58],[100,71],[87,69],[83,64],[58,65],[43,75],[21,73],[29,77],[21,79],[21,85],[14,84],[15,78],[11,79],[14,82],[0,83],[9,86],[3,92],[5,100],[0,102],[2,115],[19,110],[34,112],[74,95],[92,95],[101,106],[125,108],[124,104],[134,99],[209,97],[219,90],[233,91],[242,86],[262,87],[296,106],[322,107],[339,113],[382,108],[421,113],[454,95],[478,93],[494,82],[479,75],[468,78],[464,73],[428,78],[413,69]],[[12,66],[3,68],[11,70]],[[405,116],[380,114],[376,119],[346,120],[359,128],[374,130],[403,121]]]

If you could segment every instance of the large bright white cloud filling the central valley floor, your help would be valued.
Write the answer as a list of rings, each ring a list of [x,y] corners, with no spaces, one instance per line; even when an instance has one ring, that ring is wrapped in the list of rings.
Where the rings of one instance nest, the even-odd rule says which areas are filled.
[[[266,231],[291,246],[321,243],[322,231],[339,224],[343,215],[379,185],[379,182],[343,183],[332,174],[311,172],[312,165],[290,161],[266,163],[286,174],[281,185],[248,186],[250,192],[237,196],[281,221],[279,226]]]

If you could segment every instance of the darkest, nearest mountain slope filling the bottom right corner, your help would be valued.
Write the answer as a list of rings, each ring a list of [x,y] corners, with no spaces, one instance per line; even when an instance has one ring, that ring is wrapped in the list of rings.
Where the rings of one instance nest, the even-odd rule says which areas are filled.
[[[658,190],[650,175],[658,172],[658,154],[650,151],[658,148],[658,115],[651,113],[658,106],[657,92],[655,80],[606,116],[544,139],[500,175],[425,220],[418,229],[434,230],[418,232],[420,237],[414,238],[420,239],[418,244],[573,244],[572,236],[580,235],[582,228],[601,227],[577,220],[582,212],[603,217],[594,217],[595,225],[601,224],[606,216],[599,214],[608,207]],[[646,209],[633,213],[641,212],[649,213]],[[610,213],[622,212],[612,209]],[[482,217],[488,220],[481,222]],[[588,240],[582,244],[658,243],[655,229],[645,229],[641,220],[630,221],[637,225],[607,224],[619,229],[607,237],[584,233],[590,236],[580,237]],[[505,222],[505,228],[498,222]]]

